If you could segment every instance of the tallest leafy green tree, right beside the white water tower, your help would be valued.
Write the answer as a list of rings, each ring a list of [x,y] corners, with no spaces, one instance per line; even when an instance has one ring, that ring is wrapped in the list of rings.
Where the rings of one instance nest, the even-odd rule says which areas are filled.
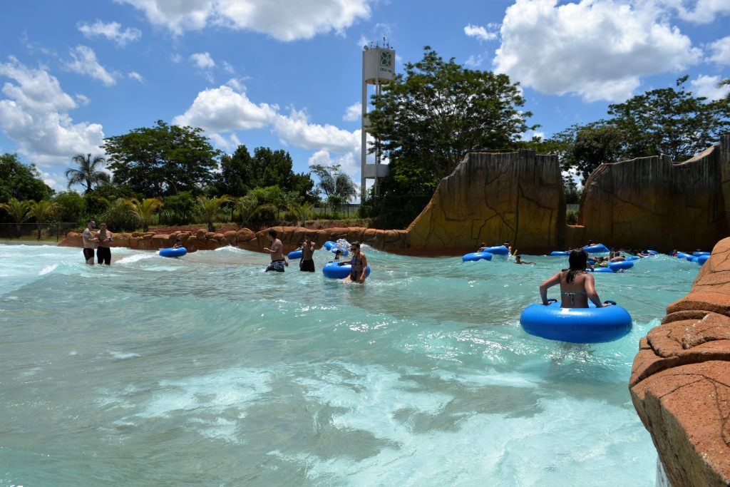
[[[371,133],[382,146],[370,152],[407,158],[424,169],[426,184],[438,183],[466,153],[510,147],[535,128],[526,124],[531,112],[520,110],[521,93],[506,74],[466,69],[425,47],[420,61],[373,96]]]

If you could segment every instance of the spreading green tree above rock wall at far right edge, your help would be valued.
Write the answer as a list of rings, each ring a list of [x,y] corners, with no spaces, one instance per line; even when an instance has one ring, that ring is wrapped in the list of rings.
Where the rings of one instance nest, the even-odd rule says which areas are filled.
[[[623,103],[609,105],[610,123],[625,140],[624,157],[666,154],[686,161],[718,142],[730,127],[730,104],[708,101],[685,90],[688,77],[675,86],[650,90]]]

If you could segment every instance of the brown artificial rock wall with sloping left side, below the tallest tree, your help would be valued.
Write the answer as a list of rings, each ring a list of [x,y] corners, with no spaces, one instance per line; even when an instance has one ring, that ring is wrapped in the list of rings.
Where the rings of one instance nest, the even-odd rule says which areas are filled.
[[[561,248],[565,194],[556,156],[469,153],[408,227],[407,253],[473,252],[480,242],[529,253]]]

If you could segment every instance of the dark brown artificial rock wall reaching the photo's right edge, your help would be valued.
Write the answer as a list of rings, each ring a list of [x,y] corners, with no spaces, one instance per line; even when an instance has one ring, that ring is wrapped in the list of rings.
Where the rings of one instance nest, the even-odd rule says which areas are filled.
[[[728,235],[728,215],[730,135],[723,135],[682,163],[656,156],[602,164],[585,182],[578,221],[581,237],[594,242],[666,252],[712,248]]]

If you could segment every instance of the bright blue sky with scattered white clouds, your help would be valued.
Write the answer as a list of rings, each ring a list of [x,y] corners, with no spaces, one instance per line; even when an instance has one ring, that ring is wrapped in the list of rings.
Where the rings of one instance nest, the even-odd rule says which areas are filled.
[[[0,17],[0,151],[65,187],[75,153],[155,120],[285,148],[295,170],[339,163],[359,180],[361,50],[399,62],[424,45],[510,74],[540,134],[690,75],[730,76],[728,0],[8,1]],[[531,134],[526,134],[529,136]]]

